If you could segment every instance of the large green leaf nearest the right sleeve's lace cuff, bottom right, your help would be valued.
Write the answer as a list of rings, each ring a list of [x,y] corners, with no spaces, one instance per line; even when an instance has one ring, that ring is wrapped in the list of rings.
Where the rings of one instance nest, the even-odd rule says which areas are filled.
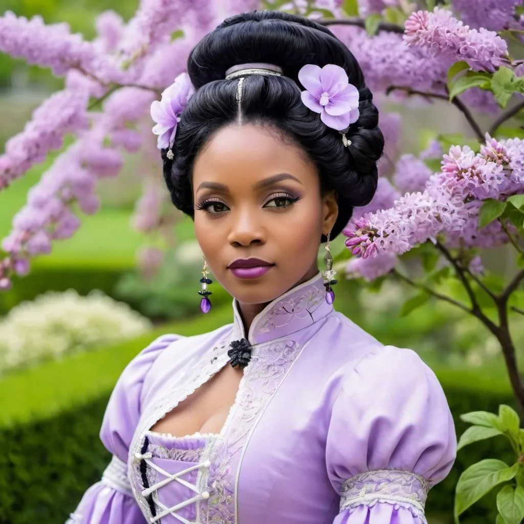
[[[455,521],[467,508],[476,503],[502,482],[510,481],[519,470],[519,464],[509,467],[497,459],[485,459],[468,467],[459,478],[455,494]]]

